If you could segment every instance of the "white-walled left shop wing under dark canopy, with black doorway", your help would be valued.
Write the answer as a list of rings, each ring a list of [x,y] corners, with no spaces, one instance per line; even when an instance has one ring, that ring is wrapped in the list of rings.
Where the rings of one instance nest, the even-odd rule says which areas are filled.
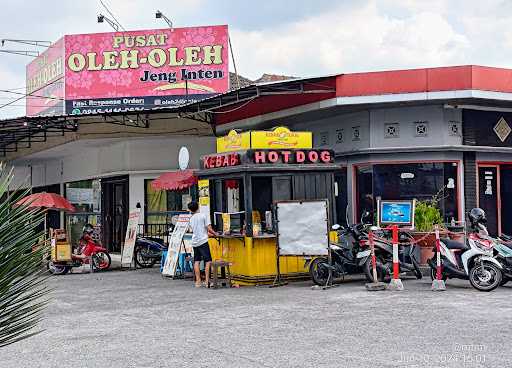
[[[145,128],[102,120],[82,117],[74,132],[49,135],[30,147],[19,144],[16,152],[8,152],[15,169],[10,189],[31,186],[33,192],[65,196],[77,212],[50,212],[49,225],[69,228],[76,240],[83,225],[91,223],[98,226],[109,250],[120,252],[130,209],[140,205],[140,223],[158,225],[186,210],[190,190],[159,192],[151,182],[179,170],[181,147],[189,148],[189,166],[197,169],[200,156],[215,149],[215,138],[206,123],[170,114],[152,114]]]

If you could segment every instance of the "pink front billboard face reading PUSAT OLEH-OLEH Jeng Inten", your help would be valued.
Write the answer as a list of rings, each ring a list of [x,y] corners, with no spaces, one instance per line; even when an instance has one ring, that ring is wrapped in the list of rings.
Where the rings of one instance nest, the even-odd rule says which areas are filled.
[[[229,88],[228,27],[65,36],[67,114],[177,106]]]

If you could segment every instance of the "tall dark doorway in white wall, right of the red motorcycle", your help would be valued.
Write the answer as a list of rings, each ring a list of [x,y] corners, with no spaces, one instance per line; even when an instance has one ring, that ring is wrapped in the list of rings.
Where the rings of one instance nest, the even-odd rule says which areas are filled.
[[[101,192],[104,246],[120,253],[128,225],[128,177],[102,179]]]

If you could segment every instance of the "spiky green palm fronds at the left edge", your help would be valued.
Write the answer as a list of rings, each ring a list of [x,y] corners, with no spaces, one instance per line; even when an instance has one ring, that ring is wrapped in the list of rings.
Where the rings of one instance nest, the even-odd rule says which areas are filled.
[[[8,193],[12,178],[12,170],[0,164],[0,347],[40,332],[34,327],[50,291],[42,267],[48,246],[38,243],[44,213],[14,205],[29,190]]]

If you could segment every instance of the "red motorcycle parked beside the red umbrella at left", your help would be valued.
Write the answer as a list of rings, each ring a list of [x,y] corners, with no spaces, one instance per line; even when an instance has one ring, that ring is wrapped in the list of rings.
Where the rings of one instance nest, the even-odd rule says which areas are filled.
[[[65,275],[73,267],[81,267],[92,261],[94,270],[103,271],[110,267],[112,260],[108,250],[96,243],[92,238],[92,225],[84,226],[82,236],[78,244],[73,247],[71,252],[71,261],[53,261],[48,259],[47,268],[53,275]]]

